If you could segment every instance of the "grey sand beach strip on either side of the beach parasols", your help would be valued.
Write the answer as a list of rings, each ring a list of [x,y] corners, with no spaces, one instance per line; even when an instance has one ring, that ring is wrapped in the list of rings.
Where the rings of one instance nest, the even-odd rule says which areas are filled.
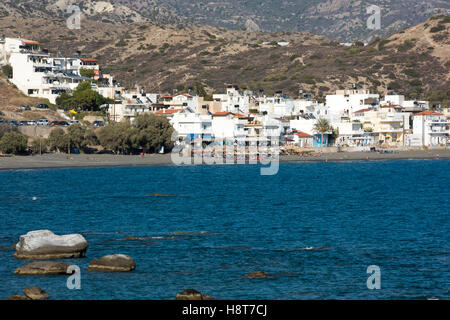
[[[450,159],[450,149],[378,152],[333,152],[321,156],[280,156],[280,162],[310,161],[375,161],[407,159]],[[133,167],[173,165],[170,154],[125,156],[108,154],[45,154],[34,156],[0,156],[0,170],[83,168],[83,167]]]

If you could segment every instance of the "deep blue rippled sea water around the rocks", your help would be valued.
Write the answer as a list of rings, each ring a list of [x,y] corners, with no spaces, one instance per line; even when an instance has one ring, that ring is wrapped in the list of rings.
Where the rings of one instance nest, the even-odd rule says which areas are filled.
[[[0,246],[49,229],[81,233],[89,249],[63,260],[81,268],[80,290],[64,275],[13,274],[29,261],[0,249],[0,298],[38,285],[52,299],[174,299],[187,288],[218,299],[448,299],[449,182],[448,160],[282,163],[275,176],[256,165],[3,171]],[[87,270],[113,253],[136,270]],[[379,290],[367,288],[370,265]],[[259,270],[274,275],[244,277]]]

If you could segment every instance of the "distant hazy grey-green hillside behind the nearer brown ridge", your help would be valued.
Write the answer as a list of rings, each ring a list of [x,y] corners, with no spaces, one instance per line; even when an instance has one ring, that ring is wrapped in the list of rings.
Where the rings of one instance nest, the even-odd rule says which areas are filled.
[[[341,42],[385,37],[450,14],[447,0],[2,0],[0,16],[68,17],[68,5],[79,5],[85,16],[106,23],[211,25],[252,31],[306,31]],[[367,29],[367,7],[381,8],[382,28]]]

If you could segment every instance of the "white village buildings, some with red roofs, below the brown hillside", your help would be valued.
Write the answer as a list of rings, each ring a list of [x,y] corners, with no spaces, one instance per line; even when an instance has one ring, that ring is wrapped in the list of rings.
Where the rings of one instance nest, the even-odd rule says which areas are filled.
[[[55,103],[63,92],[71,93],[82,81],[113,103],[104,105],[109,121],[134,121],[142,113],[169,119],[181,138],[275,138],[299,147],[401,147],[436,146],[449,142],[450,111],[429,111],[428,101],[406,100],[403,95],[383,98],[356,86],[327,95],[318,103],[299,91],[299,98],[282,92],[241,92],[237,86],[214,94],[211,101],[191,92],[173,95],[126,89],[111,75],[102,74],[96,59],[77,52],[73,57],[54,56],[32,40],[0,37],[0,65],[10,64],[10,81],[23,93]],[[82,75],[93,70],[93,77]],[[98,81],[93,81],[98,80]],[[319,119],[332,126],[322,134],[314,130]],[[412,127],[411,127],[412,125]]]

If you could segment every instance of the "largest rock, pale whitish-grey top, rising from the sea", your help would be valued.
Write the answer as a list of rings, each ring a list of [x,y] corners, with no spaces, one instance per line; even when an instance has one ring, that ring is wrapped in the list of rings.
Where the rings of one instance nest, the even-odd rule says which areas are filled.
[[[14,256],[19,259],[81,258],[87,248],[88,243],[80,234],[58,236],[49,230],[37,230],[20,236]]]

